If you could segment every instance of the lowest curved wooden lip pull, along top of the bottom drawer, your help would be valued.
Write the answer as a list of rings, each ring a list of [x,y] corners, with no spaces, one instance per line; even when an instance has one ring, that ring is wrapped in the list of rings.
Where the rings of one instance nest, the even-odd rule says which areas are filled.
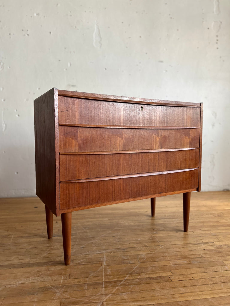
[[[62,184],[62,183],[83,183],[83,182],[91,182],[91,181],[117,180],[117,179],[120,179],[120,178],[142,177],[142,176],[178,173],[178,172],[185,172],[185,171],[193,171],[193,170],[196,170],[196,169],[199,169],[199,168],[170,170],[170,171],[158,171],[158,172],[147,172],[147,173],[137,173],[137,174],[126,174],[126,175],[116,175],[116,176],[108,176],[108,177],[94,177],[94,178],[86,178],[86,179],[81,179],[81,180],[60,181],[60,184]]]

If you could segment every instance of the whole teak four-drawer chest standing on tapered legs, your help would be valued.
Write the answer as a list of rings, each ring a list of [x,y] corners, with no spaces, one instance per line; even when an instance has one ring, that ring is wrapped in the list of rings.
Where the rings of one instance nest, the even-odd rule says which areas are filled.
[[[36,195],[62,219],[70,263],[71,212],[201,187],[202,103],[51,89],[34,101]]]

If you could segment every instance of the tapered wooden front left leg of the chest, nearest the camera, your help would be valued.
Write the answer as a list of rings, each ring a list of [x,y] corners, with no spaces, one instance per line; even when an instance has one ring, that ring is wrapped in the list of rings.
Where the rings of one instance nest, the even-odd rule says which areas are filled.
[[[71,259],[71,219],[72,213],[66,212],[61,214],[62,218],[62,240],[63,240],[63,250],[64,250],[64,260],[65,265],[70,264]]]

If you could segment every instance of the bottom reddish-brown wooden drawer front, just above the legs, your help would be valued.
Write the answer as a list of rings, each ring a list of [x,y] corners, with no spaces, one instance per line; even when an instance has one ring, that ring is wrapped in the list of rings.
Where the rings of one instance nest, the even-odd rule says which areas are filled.
[[[198,169],[150,176],[60,184],[60,209],[150,197],[197,188]]]

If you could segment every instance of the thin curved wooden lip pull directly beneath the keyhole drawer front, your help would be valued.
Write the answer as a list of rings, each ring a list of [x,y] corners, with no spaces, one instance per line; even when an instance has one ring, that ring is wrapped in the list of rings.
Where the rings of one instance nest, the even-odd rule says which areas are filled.
[[[147,125],[98,125],[59,123],[61,126],[79,126],[83,128],[110,128],[110,129],[200,129],[200,126],[147,126]]]

